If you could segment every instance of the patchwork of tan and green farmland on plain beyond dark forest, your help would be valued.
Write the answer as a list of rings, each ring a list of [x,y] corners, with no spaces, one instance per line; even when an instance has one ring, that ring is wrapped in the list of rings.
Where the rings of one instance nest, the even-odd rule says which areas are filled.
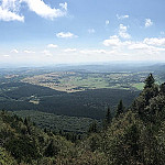
[[[59,91],[76,92],[86,89],[118,88],[141,90],[148,73],[76,73],[56,72],[26,77],[22,81]]]

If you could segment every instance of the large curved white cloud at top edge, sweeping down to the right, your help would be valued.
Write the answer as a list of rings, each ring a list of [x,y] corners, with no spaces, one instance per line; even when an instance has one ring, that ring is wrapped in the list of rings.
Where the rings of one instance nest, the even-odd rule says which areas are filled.
[[[63,3],[59,4],[63,8],[63,10],[55,8],[52,9],[43,0],[21,0],[21,2],[25,2],[29,9],[35,12],[37,15],[51,20],[58,16],[64,16],[67,10],[66,2],[64,4]]]

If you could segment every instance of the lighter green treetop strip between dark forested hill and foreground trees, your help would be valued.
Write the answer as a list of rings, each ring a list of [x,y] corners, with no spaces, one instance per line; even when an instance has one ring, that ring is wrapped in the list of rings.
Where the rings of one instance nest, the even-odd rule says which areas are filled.
[[[56,133],[58,133],[59,130],[64,130],[65,132],[84,133],[88,131],[89,124],[95,121],[90,118],[56,116],[34,110],[14,111],[13,113],[24,119],[30,117],[31,121],[35,122],[41,129],[46,128]]]

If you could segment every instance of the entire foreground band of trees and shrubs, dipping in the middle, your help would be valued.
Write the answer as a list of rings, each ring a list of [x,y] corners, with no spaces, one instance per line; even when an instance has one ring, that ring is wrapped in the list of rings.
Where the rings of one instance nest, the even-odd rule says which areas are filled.
[[[67,139],[0,112],[2,165],[164,165],[165,84],[157,86],[151,74],[130,108],[121,100],[101,129],[94,122],[82,139]]]

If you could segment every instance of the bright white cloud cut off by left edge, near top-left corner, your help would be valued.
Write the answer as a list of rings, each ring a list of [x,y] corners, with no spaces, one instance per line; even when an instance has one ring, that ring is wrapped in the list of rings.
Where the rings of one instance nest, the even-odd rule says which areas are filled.
[[[15,12],[9,11],[8,9],[3,9],[2,7],[0,7],[0,20],[2,21],[20,21],[20,22],[24,22],[24,16],[23,15],[19,15]]]

